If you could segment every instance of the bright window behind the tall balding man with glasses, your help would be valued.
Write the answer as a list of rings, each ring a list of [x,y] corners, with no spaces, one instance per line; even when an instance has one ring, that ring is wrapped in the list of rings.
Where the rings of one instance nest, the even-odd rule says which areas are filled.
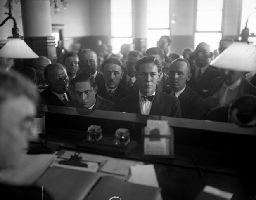
[[[200,42],[206,42],[212,52],[218,49],[222,37],[222,7],[223,0],[197,0],[194,47]]]

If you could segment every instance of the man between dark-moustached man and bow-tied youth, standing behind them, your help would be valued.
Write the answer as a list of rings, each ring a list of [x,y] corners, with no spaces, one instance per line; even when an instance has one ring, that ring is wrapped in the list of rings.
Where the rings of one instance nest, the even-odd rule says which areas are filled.
[[[128,54],[128,59],[126,62],[127,69],[123,73],[123,78],[121,79],[121,84],[128,88],[132,88],[133,84],[136,81],[136,69],[135,64],[136,62],[143,57],[142,52],[133,50]]]

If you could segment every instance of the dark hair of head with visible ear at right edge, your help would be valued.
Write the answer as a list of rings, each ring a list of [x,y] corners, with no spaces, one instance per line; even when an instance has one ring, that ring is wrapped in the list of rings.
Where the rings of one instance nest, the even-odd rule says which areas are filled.
[[[242,124],[247,124],[256,117],[256,96],[246,94],[235,99],[230,106],[232,112],[237,108],[237,119]]]

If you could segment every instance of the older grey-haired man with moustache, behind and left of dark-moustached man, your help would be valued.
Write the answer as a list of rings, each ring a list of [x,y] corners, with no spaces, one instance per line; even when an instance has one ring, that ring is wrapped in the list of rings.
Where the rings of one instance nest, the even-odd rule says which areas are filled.
[[[97,54],[92,49],[83,49],[79,54],[79,68],[81,72],[93,75],[97,85],[104,83],[103,75],[97,71],[99,60]]]

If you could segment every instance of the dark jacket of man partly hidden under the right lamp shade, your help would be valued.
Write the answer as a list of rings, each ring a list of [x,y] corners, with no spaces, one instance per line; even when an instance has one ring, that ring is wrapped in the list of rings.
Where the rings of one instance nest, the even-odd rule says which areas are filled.
[[[216,79],[214,79],[206,96],[213,96],[213,94],[221,88],[223,83],[224,81],[221,77],[217,77]],[[242,96],[244,94],[253,94],[254,96],[256,96],[256,87],[248,82],[246,79],[242,78],[241,84],[239,86],[238,96]]]

